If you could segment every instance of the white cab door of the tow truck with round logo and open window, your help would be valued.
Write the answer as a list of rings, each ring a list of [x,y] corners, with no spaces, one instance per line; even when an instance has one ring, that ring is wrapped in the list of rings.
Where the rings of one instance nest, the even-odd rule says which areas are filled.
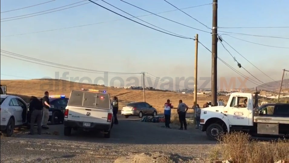
[[[248,97],[234,96],[228,107],[228,121],[231,125],[248,126],[250,103],[245,104],[244,101]]]

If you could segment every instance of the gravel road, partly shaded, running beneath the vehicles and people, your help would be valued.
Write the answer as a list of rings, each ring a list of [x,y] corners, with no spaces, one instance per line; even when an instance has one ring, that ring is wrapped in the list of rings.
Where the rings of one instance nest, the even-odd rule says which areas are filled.
[[[163,152],[182,162],[199,162],[216,143],[192,126],[178,130],[178,126],[166,129],[163,125],[120,116],[110,139],[101,133],[79,131],[67,137],[63,125],[50,125],[42,135],[28,135],[27,130],[20,129],[12,137],[1,136],[1,163],[114,162],[120,156],[148,152]]]

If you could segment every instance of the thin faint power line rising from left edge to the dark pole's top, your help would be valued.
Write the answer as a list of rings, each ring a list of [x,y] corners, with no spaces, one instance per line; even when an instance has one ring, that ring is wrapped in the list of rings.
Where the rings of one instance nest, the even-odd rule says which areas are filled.
[[[211,5],[211,4],[212,3],[204,4],[204,5],[198,5],[198,6],[191,6],[191,7],[187,7],[187,8],[181,8],[180,10],[189,9],[189,8],[195,8],[195,7],[205,6],[205,5]],[[163,12],[158,12],[156,14],[162,14],[162,13],[167,13],[167,12],[172,12],[172,11],[178,11],[178,10],[176,9],[176,10],[163,11]],[[140,16],[136,16],[136,17],[139,18],[139,17],[150,16],[150,15],[153,15],[153,14],[140,15]],[[132,18],[135,18],[135,17],[130,17],[130,19],[132,19]],[[36,31],[36,32],[30,32],[30,33],[12,34],[12,35],[6,35],[6,36],[1,36],[1,37],[19,36],[19,35],[25,35],[25,34],[35,34],[35,33],[41,33],[41,32],[49,32],[49,31],[57,31],[57,30],[77,28],[77,27],[85,27],[85,26],[90,26],[90,25],[95,25],[95,24],[102,24],[102,23],[113,22],[113,21],[120,21],[120,20],[127,20],[127,19],[115,19],[115,20],[111,20],[111,21],[102,21],[102,22],[97,22],[97,23],[83,24],[83,25],[77,25],[77,26],[71,26],[71,27],[65,27],[65,28],[56,28],[56,29],[50,29],[50,30],[44,30],[44,31]]]

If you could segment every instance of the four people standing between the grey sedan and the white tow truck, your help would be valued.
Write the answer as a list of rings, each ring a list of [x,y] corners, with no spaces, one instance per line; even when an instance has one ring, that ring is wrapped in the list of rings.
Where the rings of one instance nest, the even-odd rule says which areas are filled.
[[[205,103],[204,106],[205,107],[209,107],[209,103]],[[167,102],[164,105],[164,115],[165,115],[165,126],[166,128],[170,129],[170,122],[171,122],[171,109],[173,108],[172,103],[170,103],[170,100],[168,99]],[[187,129],[187,122],[186,122],[186,112],[188,111],[189,107],[182,102],[182,100],[179,100],[179,105],[177,107],[177,112],[179,115],[179,122],[180,122],[180,128],[179,130],[186,130]],[[194,109],[194,116],[195,116],[195,120],[196,120],[196,129],[199,129],[199,125],[200,125],[200,116],[201,116],[201,108],[199,106],[199,104],[196,104],[195,106],[193,106]]]

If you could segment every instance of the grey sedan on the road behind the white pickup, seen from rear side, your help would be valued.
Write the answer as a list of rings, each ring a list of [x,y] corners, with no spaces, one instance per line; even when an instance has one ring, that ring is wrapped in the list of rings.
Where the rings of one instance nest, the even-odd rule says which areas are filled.
[[[156,116],[157,111],[156,108],[146,102],[132,102],[123,106],[121,115],[124,115],[126,118],[129,116],[139,116],[142,118],[144,115]]]

